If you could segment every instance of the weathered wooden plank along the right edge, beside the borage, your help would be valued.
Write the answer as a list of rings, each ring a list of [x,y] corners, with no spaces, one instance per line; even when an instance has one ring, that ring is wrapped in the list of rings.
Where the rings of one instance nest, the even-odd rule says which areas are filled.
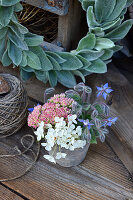
[[[93,87],[106,82],[115,90],[111,107],[112,115],[118,116],[107,141],[133,176],[133,85],[113,65],[108,73],[97,75],[95,82],[88,80]]]

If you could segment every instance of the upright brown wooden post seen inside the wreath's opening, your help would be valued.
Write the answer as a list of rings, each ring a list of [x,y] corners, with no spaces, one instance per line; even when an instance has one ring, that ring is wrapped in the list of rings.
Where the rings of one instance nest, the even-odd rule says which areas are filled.
[[[69,12],[66,16],[60,16],[58,21],[57,41],[66,50],[76,48],[79,41],[81,25],[81,5],[77,0],[69,1]]]

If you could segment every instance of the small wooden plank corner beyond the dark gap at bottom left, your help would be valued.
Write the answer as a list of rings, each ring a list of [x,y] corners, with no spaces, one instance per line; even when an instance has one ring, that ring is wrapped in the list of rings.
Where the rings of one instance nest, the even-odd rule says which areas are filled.
[[[0,200],[22,200],[23,198],[0,185]]]

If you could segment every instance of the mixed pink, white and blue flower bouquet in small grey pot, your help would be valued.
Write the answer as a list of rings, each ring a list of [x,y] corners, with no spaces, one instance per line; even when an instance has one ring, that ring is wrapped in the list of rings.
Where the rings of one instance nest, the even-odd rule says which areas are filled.
[[[45,91],[45,97],[49,91],[51,88]],[[34,128],[37,141],[49,152],[44,158],[64,167],[75,166],[84,160],[90,144],[97,144],[98,138],[104,142],[107,126],[117,120],[109,116],[105,103],[112,91],[108,83],[97,87],[97,98],[91,103],[92,89],[79,83],[44,105],[30,108],[28,126]]]

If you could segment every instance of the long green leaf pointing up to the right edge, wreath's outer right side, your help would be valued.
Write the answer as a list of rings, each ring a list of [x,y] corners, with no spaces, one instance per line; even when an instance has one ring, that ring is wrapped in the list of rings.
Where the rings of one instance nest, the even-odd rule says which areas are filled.
[[[107,33],[105,37],[111,39],[114,42],[121,40],[126,36],[128,31],[132,27],[132,24],[133,24],[133,20],[131,19],[124,21],[119,27]]]

